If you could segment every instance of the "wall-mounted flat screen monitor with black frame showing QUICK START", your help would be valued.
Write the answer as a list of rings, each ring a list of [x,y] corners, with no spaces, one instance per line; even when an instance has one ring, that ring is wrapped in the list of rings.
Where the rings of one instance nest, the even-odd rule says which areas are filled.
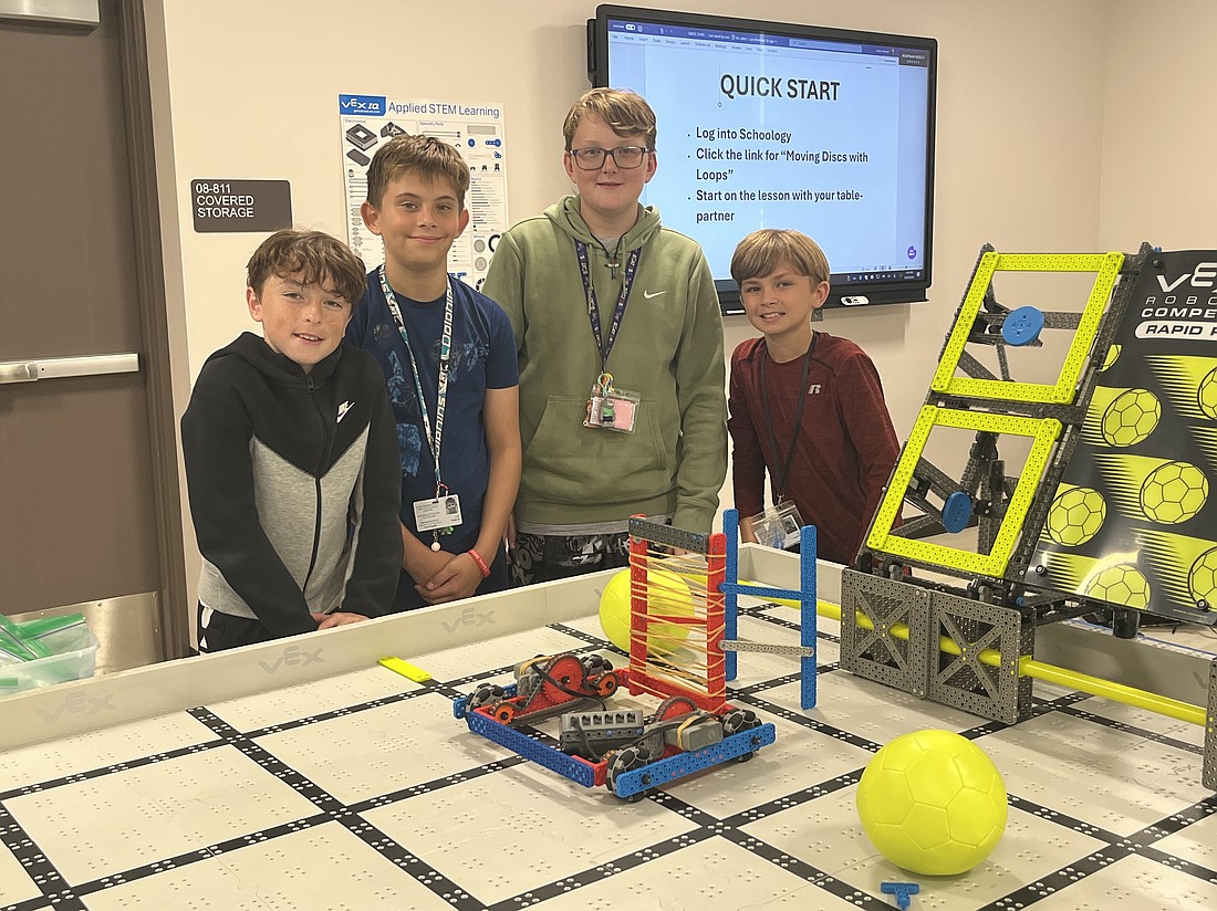
[[[706,251],[740,313],[735,244],[792,227],[824,248],[830,307],[925,300],[931,277],[938,43],[686,12],[599,6],[593,85],[658,119],[643,203]]]

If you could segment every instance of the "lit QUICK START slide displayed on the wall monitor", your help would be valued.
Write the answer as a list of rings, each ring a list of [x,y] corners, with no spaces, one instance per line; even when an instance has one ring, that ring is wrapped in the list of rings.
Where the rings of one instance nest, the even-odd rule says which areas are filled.
[[[716,279],[758,227],[804,231],[839,275],[924,265],[924,67],[857,45],[610,41],[612,84],[658,114],[643,201],[705,247]]]

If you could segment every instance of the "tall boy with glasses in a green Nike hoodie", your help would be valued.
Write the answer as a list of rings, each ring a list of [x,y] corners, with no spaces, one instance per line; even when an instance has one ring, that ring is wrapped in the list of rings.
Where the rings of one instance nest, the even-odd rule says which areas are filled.
[[[578,193],[507,231],[482,288],[520,358],[521,584],[627,566],[635,513],[710,532],[727,474],[714,281],[701,247],[639,204],[655,112],[593,89],[562,133]]]

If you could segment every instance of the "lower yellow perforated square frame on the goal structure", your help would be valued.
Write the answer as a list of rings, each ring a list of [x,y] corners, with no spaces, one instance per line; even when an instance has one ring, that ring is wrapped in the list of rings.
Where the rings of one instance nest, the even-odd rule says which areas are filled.
[[[1049,387],[1050,388],[1050,387]],[[1006,507],[1005,516],[993,541],[993,547],[988,553],[974,553],[959,547],[950,547],[942,544],[901,538],[892,534],[892,523],[899,514],[908,491],[909,482],[913,480],[921,452],[930,439],[930,432],[935,427],[955,427],[964,431],[977,431],[988,433],[1008,433],[1019,437],[1031,437],[1034,442],[1027,454],[1027,461],[1019,474],[1019,483],[1015,485],[1014,495]],[[1022,530],[1023,519],[1034,499],[1039,480],[1044,474],[1048,460],[1051,457],[1053,446],[1060,437],[1062,424],[1060,421],[1044,417],[1014,417],[1010,415],[993,415],[982,411],[958,411],[955,409],[937,407],[925,405],[918,415],[916,423],[909,433],[908,443],[901,452],[901,459],[892,472],[892,480],[887,485],[887,493],[879,505],[875,522],[867,539],[867,546],[881,553],[890,553],[897,557],[920,563],[930,563],[964,573],[974,573],[993,579],[1003,578],[1005,568],[1010,562],[1010,556]]]

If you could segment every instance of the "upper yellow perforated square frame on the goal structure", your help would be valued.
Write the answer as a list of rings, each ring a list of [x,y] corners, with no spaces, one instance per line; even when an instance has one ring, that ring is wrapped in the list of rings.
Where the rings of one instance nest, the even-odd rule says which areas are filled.
[[[1077,381],[1086,366],[1087,354],[1103,322],[1103,314],[1111,289],[1120,277],[1123,253],[985,253],[976,266],[954,330],[947,339],[938,370],[930,388],[944,395],[974,395],[1006,401],[1048,403],[1067,405],[1077,394]],[[996,272],[1095,272],[1090,297],[1086,302],[1081,322],[1073,334],[1065,362],[1054,386],[1019,383],[1005,379],[958,377],[959,359],[971,334],[972,325],[985,303],[985,294]]]

